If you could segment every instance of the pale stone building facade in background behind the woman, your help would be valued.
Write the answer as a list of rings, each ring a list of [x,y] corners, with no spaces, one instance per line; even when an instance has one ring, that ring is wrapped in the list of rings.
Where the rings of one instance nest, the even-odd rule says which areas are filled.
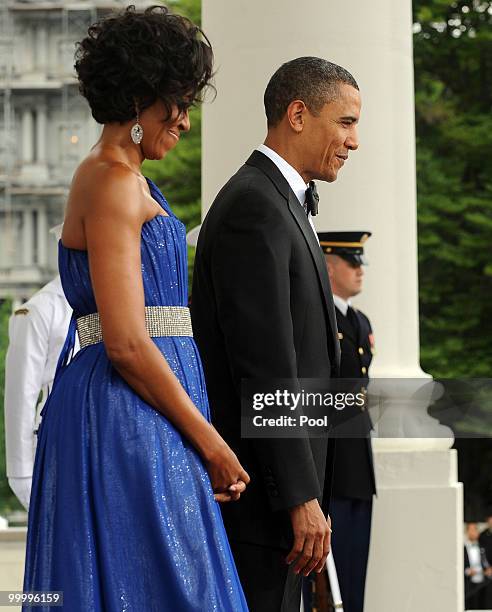
[[[0,300],[19,303],[57,273],[49,228],[101,129],[78,92],[75,43],[128,4],[0,0]]]

